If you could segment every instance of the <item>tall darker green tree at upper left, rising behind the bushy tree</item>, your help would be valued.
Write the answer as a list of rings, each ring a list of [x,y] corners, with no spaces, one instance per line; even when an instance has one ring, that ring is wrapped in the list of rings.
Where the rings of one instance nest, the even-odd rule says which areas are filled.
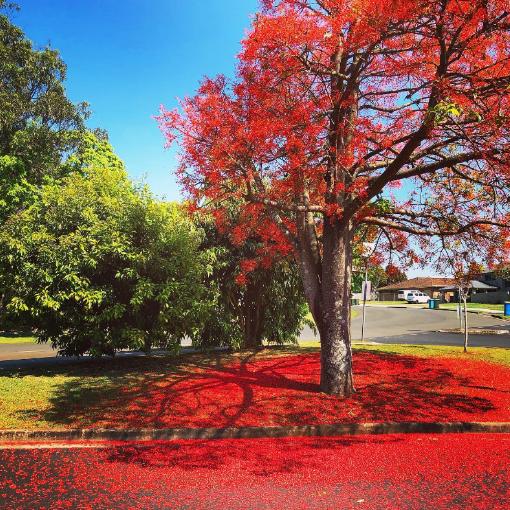
[[[57,50],[34,48],[0,0],[0,223],[28,206],[34,189],[69,170],[61,165],[86,132],[88,104],[66,96]]]

